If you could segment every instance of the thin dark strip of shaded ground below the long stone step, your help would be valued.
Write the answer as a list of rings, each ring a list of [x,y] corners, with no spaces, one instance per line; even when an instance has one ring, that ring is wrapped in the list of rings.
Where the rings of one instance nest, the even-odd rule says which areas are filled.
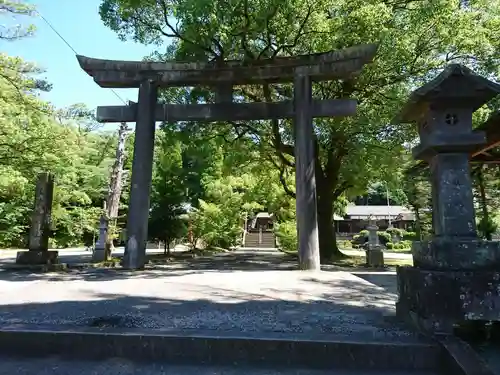
[[[361,372],[342,370],[263,369],[251,367],[174,366],[134,364],[124,360],[69,362],[57,358],[17,360],[0,358],[0,375],[433,375],[432,373]]]

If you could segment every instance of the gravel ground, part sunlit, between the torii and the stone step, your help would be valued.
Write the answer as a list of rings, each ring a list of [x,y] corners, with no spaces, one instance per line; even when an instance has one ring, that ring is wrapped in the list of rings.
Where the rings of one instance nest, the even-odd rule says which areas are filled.
[[[0,324],[409,336],[386,317],[392,273],[301,272],[279,255],[232,254],[163,270],[0,273]],[[365,277],[366,278],[366,277]]]

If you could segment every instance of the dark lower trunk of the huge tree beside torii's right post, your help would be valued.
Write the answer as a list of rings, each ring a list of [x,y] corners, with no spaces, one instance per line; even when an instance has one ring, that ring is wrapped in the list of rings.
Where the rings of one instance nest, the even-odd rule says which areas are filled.
[[[321,262],[345,257],[337,246],[337,235],[333,225],[333,203],[333,194],[325,192],[318,194],[318,237]]]

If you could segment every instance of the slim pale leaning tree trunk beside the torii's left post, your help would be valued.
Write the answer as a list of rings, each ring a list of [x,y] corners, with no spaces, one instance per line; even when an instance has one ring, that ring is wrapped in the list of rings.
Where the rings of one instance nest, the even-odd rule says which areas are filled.
[[[128,126],[125,122],[120,124],[118,129],[118,145],[116,146],[115,162],[111,168],[109,179],[108,197],[106,199],[106,215],[108,220],[115,221],[115,230],[108,230],[106,243],[110,247],[110,252],[114,249],[113,239],[110,238],[116,232],[116,218],[120,206],[120,196],[123,188],[123,164],[125,163],[125,140],[127,138]]]

